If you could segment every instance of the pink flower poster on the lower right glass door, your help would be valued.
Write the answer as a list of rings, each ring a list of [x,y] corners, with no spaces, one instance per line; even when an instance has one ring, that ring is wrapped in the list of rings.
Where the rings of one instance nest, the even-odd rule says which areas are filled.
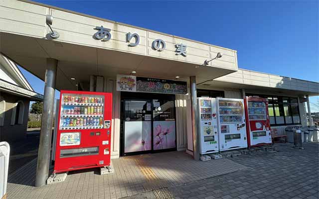
[[[153,122],[153,144],[154,150],[176,147],[175,121]]]

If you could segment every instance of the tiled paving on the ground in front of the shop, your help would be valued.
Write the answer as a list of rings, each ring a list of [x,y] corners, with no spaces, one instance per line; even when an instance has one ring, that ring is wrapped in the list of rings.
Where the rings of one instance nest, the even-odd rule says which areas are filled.
[[[177,151],[122,157],[112,160],[112,175],[70,172],[64,182],[41,188],[34,187],[34,159],[10,174],[7,193],[9,199],[318,198],[319,143],[305,150],[275,146],[277,152],[206,162]]]

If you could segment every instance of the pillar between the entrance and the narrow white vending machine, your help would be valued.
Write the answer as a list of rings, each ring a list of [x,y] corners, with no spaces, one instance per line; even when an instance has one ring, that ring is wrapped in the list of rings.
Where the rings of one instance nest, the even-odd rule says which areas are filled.
[[[189,78],[190,82],[190,101],[191,101],[191,122],[193,132],[193,154],[194,159],[199,160],[199,123],[198,123],[198,112],[197,112],[197,91],[196,91],[196,76]]]

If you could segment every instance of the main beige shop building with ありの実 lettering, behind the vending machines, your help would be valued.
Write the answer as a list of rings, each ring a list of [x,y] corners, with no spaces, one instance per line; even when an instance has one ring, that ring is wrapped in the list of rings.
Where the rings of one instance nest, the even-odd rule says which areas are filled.
[[[141,147],[151,147],[151,152],[191,153],[196,126],[196,102],[191,98],[196,95],[265,97],[270,103],[272,128],[280,132],[287,125],[307,125],[305,103],[309,103],[309,96],[319,95],[317,82],[239,69],[236,50],[28,0],[3,0],[0,9],[0,52],[42,80],[49,65],[52,67],[52,59],[55,60],[52,70],[56,71],[58,90],[113,94],[112,158],[139,151],[126,137],[134,135],[126,122],[136,118],[145,121],[136,124],[140,125],[140,132],[151,131],[153,136],[149,138],[153,140],[152,146]],[[51,21],[47,16],[52,17]],[[58,37],[56,33],[52,35],[50,23]],[[16,49],[15,44],[28,49]],[[127,78],[121,80],[121,75]],[[151,87],[178,80],[184,82],[186,92],[118,89],[119,84],[131,81],[129,78],[139,79],[141,85],[152,82]],[[167,111],[159,110],[162,104]],[[151,115],[152,111],[158,112],[149,118],[148,111]],[[174,125],[165,127],[166,132],[174,131],[175,135],[175,143],[166,138],[166,147],[156,141],[162,121]]]

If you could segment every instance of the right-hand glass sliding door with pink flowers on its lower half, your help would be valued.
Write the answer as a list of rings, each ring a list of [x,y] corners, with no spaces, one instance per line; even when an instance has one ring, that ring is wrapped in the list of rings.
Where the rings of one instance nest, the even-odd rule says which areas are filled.
[[[174,100],[153,101],[153,149],[176,148]]]

